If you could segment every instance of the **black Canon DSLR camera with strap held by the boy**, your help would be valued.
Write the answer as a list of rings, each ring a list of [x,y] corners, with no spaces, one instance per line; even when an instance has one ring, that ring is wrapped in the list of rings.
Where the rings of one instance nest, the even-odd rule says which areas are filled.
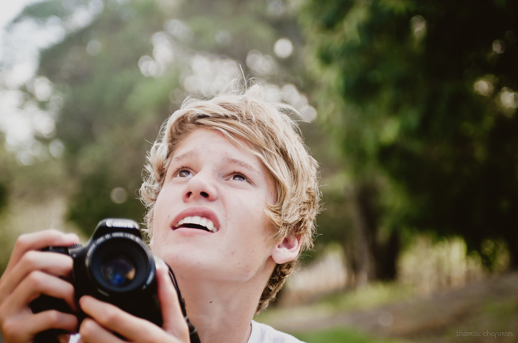
[[[162,311],[156,293],[155,261],[148,246],[142,242],[138,224],[130,219],[104,219],[95,228],[90,241],[83,247],[47,247],[45,251],[69,255],[74,260],[73,275],[68,280],[75,289],[76,301],[91,295],[101,301],[116,305],[122,310],[162,326]],[[175,275],[169,268],[171,282],[178,293],[185,320],[189,324],[191,342],[199,342],[196,328],[186,316],[185,305],[178,289]],[[31,302],[34,313],[56,309],[78,317],[85,314],[73,312],[66,302],[41,295]],[[36,342],[57,342],[63,331],[52,329],[36,336]]]

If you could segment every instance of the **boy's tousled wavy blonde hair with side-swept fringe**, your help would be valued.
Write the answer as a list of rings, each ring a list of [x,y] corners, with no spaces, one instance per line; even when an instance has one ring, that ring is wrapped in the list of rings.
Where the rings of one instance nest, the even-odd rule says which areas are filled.
[[[208,100],[188,99],[161,128],[147,156],[140,199],[147,208],[145,232],[153,233],[154,204],[162,188],[170,158],[180,141],[198,128],[222,132],[231,142],[256,155],[275,181],[277,198],[266,214],[276,230],[276,242],[293,235],[300,251],[313,247],[314,220],[320,210],[318,163],[309,154],[290,114],[297,111],[261,97],[262,87],[232,91]],[[248,146],[239,142],[243,140]],[[296,260],[278,264],[268,281],[257,312],[275,299]]]

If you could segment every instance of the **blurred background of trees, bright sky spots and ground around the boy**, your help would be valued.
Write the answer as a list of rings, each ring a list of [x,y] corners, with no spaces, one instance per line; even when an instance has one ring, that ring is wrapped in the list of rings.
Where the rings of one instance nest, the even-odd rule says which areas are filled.
[[[516,341],[518,3],[23,0],[0,28],[0,272],[21,233],[141,222],[162,122],[244,75],[300,110],[325,208],[258,321]]]

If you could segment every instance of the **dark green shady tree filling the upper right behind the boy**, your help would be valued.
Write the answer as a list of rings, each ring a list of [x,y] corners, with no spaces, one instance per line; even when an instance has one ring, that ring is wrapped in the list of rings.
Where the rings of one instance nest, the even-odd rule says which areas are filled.
[[[518,267],[517,7],[307,2],[318,108],[352,175],[374,276],[394,276],[383,262],[405,230],[462,235],[488,267],[484,242],[503,240]]]

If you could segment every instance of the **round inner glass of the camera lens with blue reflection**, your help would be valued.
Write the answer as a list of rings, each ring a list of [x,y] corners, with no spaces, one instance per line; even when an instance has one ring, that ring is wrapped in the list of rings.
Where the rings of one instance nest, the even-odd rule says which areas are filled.
[[[124,287],[133,281],[136,274],[135,263],[125,255],[108,255],[100,265],[103,279],[114,287]]]

